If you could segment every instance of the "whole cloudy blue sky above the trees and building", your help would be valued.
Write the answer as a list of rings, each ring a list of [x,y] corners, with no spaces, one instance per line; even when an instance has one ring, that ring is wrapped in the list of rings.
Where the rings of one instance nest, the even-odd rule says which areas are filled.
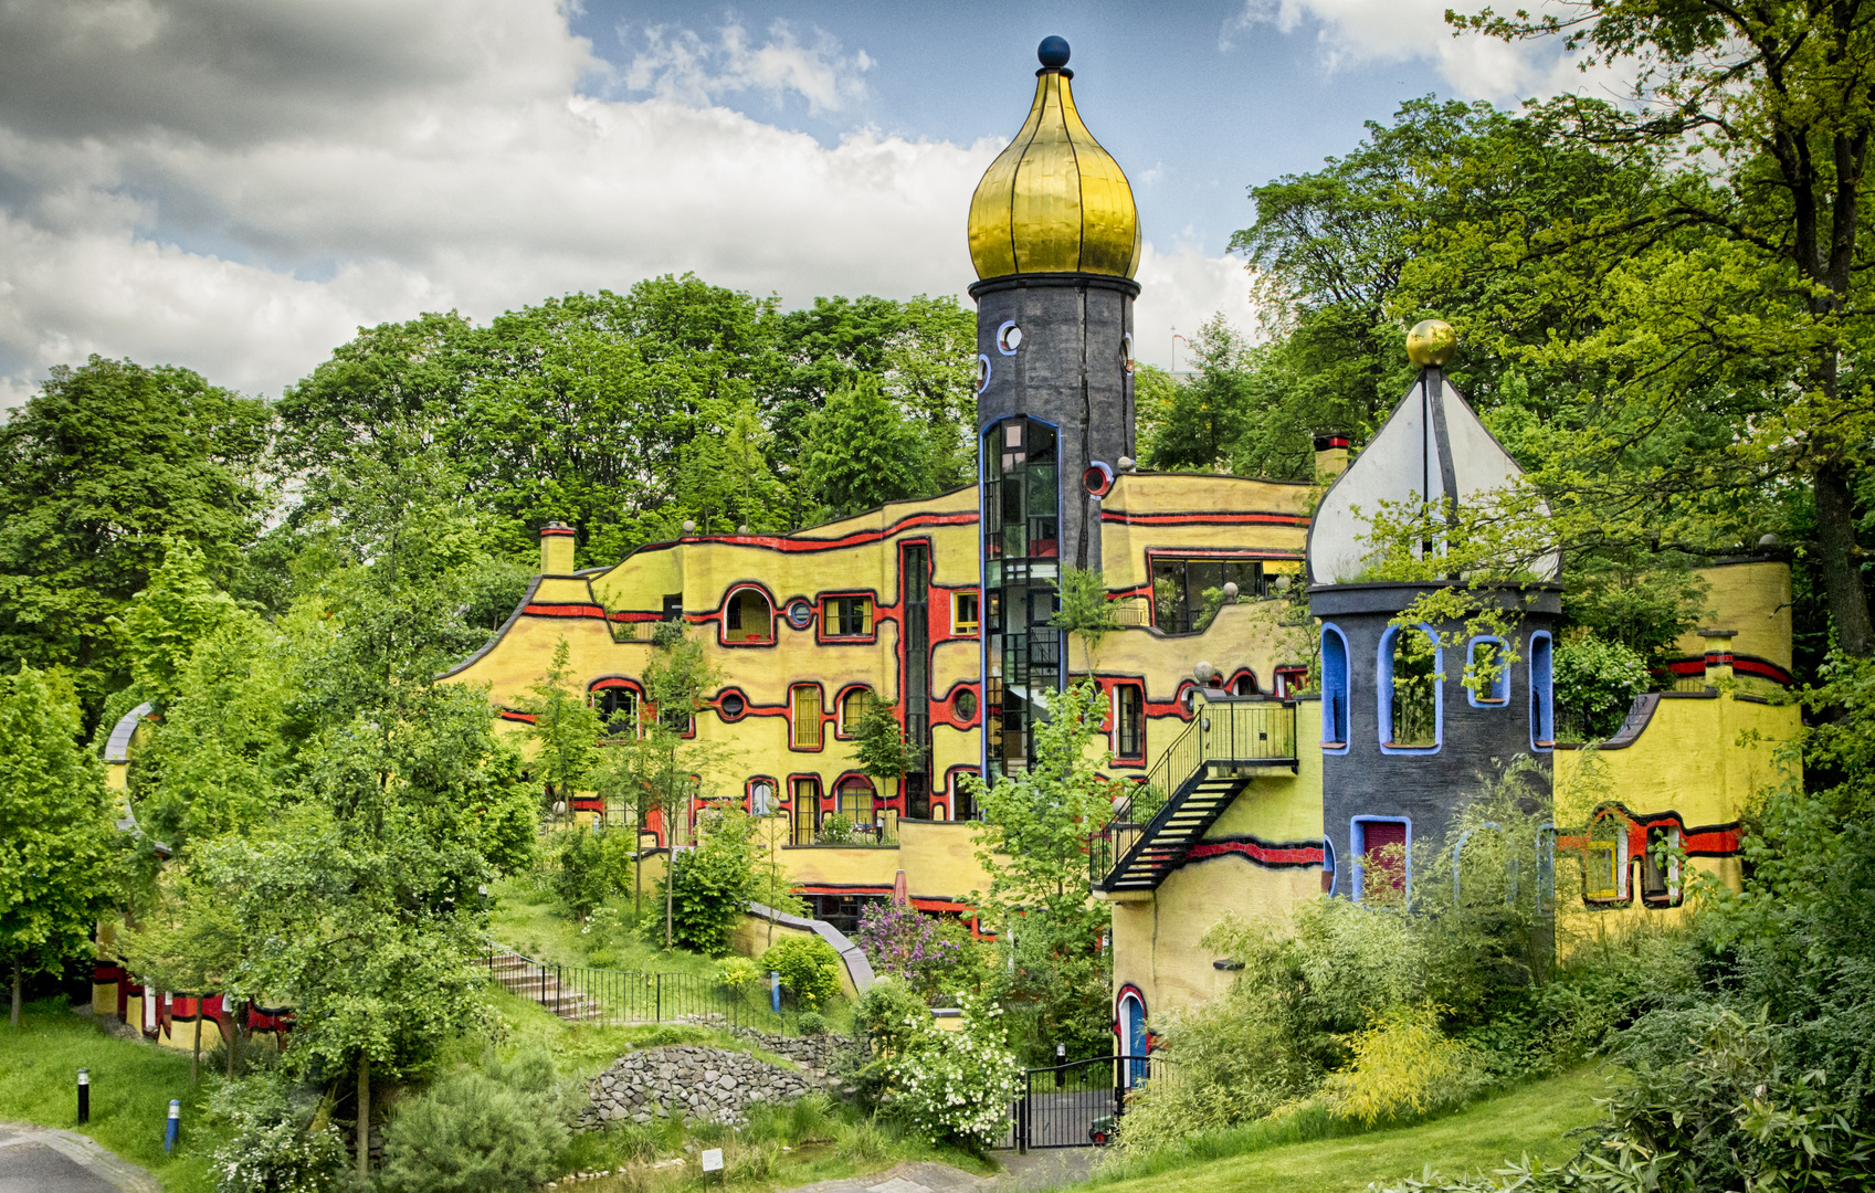
[[[1146,221],[1140,355],[1251,323],[1245,188],[1575,86],[1449,0],[0,0],[0,405],[90,353],[278,394],[358,325],[664,272],[956,294],[1035,43]]]

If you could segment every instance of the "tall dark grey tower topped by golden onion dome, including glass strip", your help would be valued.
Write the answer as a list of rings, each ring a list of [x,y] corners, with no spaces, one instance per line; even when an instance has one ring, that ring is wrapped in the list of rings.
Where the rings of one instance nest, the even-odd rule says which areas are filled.
[[[1101,495],[1132,456],[1140,221],[1074,111],[1069,49],[1037,53],[1035,101],[969,206],[982,480],[986,773],[1029,765],[1063,683],[1048,625],[1063,565],[1101,566]]]

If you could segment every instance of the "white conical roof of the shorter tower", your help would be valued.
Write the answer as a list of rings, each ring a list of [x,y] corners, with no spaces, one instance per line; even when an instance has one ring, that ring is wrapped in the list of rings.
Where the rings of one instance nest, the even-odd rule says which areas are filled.
[[[1316,506],[1309,525],[1309,580],[1352,583],[1367,570],[1369,520],[1384,503],[1442,503],[1455,493],[1462,508],[1519,476],[1522,469],[1444,371],[1425,370]],[[1556,555],[1545,555],[1532,570],[1554,580],[1558,563]]]

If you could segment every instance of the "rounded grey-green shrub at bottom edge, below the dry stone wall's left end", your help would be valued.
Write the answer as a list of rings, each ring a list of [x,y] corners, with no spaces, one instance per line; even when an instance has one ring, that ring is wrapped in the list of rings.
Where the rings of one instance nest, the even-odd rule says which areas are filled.
[[[384,1131],[386,1193],[527,1193],[553,1176],[566,1146],[553,1064],[523,1056],[452,1073]]]

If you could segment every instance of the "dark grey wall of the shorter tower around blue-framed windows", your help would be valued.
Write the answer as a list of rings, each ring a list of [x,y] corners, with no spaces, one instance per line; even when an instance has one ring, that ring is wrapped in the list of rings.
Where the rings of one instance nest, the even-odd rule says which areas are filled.
[[[1562,612],[1554,585],[1500,595],[1517,621],[1517,660],[1511,664],[1509,703],[1472,707],[1464,690],[1464,643],[1446,647],[1444,733],[1434,754],[1380,750],[1378,666],[1380,638],[1395,613],[1427,591],[1425,585],[1324,585],[1309,591],[1309,610],[1348,640],[1348,752],[1322,754],[1322,829],[1335,848],[1335,893],[1354,895],[1356,816],[1406,818],[1414,853],[1438,848],[1453,814],[1476,795],[1479,775],[1530,754],[1530,634],[1551,630]],[[1442,627],[1442,634],[1459,627]],[[1406,630],[1401,630],[1406,632]],[[1545,792],[1547,801],[1547,792]],[[1543,810],[1545,818],[1549,808]],[[1416,876],[1418,880],[1418,876]]]

